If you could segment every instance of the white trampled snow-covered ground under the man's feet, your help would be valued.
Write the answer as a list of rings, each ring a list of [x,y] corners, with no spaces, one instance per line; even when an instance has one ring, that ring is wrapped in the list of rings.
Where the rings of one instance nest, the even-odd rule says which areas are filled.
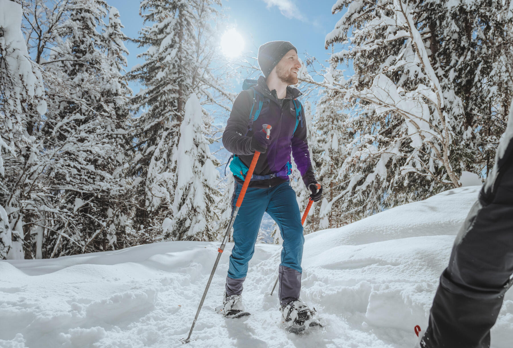
[[[281,247],[258,244],[245,282],[251,316],[225,319],[222,300],[231,245],[189,347],[411,348],[426,327],[454,235],[479,187],[442,192],[339,229],[306,236],[302,298],[326,326],[285,333],[276,292]],[[219,242],[168,242],[45,260],[0,262],[0,347],[181,347]],[[513,294],[492,330],[492,346],[513,341]]]

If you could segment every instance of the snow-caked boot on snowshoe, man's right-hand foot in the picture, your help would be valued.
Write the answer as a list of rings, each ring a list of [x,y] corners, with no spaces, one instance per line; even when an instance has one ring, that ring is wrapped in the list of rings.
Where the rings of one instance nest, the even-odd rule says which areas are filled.
[[[321,323],[315,318],[315,308],[310,309],[305,303],[296,298],[287,305],[280,307],[282,313],[282,322],[285,323],[285,330],[295,334],[304,331],[306,328],[314,326],[322,327]]]

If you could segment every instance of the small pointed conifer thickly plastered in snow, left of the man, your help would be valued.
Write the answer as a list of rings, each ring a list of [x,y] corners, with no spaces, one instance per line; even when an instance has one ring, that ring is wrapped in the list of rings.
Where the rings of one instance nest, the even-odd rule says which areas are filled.
[[[221,195],[216,185],[218,160],[210,155],[204,137],[203,109],[193,93],[185,103],[185,118],[173,162],[176,186],[171,213],[163,223],[166,240],[212,241],[219,216],[215,203]]]

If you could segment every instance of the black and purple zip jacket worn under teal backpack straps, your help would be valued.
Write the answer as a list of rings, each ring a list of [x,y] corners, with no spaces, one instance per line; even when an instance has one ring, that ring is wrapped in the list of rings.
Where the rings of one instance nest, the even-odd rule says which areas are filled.
[[[301,108],[301,122],[296,128],[296,109],[292,99],[301,96],[301,92],[293,87],[287,87],[287,95],[280,104],[279,100],[273,95],[261,76],[257,89],[264,96],[264,103],[259,117],[254,120],[251,129],[248,132],[249,115],[253,102],[253,93],[251,91],[242,91],[235,102],[228,119],[226,129],[223,133],[223,145],[232,154],[249,167],[254,151],[250,147],[251,136],[254,132],[260,132],[263,124],[270,124],[271,143],[267,147],[265,154],[261,154],[254,169],[255,175],[270,175],[286,169],[287,163],[290,163],[290,153],[294,157],[294,162],[303,178],[306,186],[310,183],[317,183],[312,170],[310,153],[308,151],[308,141],[306,139],[306,122],[304,110]],[[295,131],[294,131],[295,128]],[[244,134],[247,135],[244,136]],[[251,181],[249,187],[266,188],[279,185],[288,181],[288,176],[280,176],[272,179]],[[235,181],[242,184],[243,180],[235,177]]]

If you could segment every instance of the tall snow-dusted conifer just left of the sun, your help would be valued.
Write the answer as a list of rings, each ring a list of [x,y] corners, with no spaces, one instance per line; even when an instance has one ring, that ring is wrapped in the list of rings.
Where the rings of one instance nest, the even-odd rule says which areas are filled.
[[[140,47],[149,47],[141,54],[145,62],[130,72],[130,78],[146,87],[133,98],[136,111],[144,109],[135,122],[135,157],[130,175],[135,177],[135,197],[139,208],[134,223],[152,238],[162,235],[164,218],[174,220],[175,189],[180,179],[180,166],[173,158],[178,151],[181,124],[185,117],[185,102],[195,93],[200,102],[220,103],[216,93],[225,95],[219,78],[212,73],[216,53],[213,29],[219,0],[145,0],[141,15],[146,24],[136,40]],[[228,109],[229,110],[229,109]],[[208,120],[206,124],[208,124]],[[198,128],[197,128],[198,129]],[[177,167],[178,166],[178,167]],[[210,194],[210,189],[204,189]],[[212,192],[206,201],[212,201]],[[181,219],[181,217],[176,217]],[[181,223],[174,220],[176,231],[167,230],[167,236],[198,240],[204,236],[185,233]],[[173,228],[174,228],[173,227]]]

